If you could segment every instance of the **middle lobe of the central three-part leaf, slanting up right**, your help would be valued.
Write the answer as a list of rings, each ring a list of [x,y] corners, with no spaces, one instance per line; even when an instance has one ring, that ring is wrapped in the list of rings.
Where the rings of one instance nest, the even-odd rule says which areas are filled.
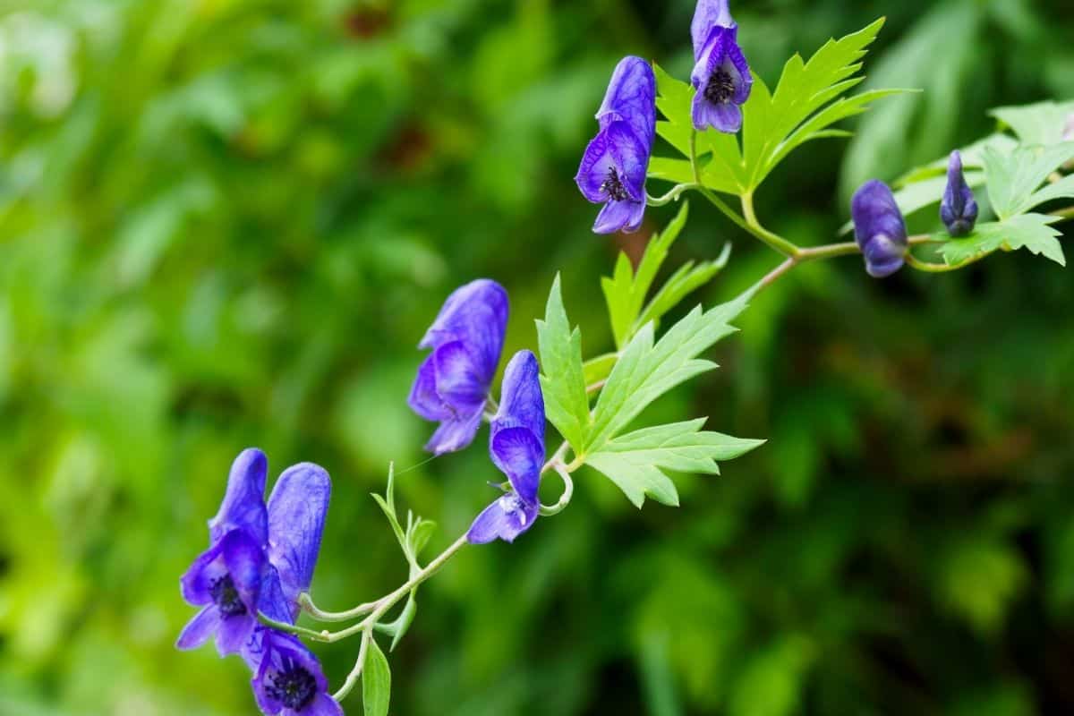
[[[593,422],[580,454],[599,452],[661,395],[716,365],[696,356],[736,331],[729,321],[746,306],[743,295],[702,311],[700,306],[654,344],[647,323],[623,349],[593,410]],[[579,452],[579,451],[576,451]]]

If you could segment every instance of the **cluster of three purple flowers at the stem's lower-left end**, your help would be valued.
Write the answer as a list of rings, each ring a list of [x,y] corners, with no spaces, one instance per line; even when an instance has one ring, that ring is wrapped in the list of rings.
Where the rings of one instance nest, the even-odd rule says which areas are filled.
[[[294,624],[299,595],[309,589],[317,565],[331,481],[317,465],[294,465],[280,474],[266,506],[267,468],[260,450],[235,458],[220,510],[208,523],[208,550],[179,581],[184,599],[202,610],[176,646],[195,648],[215,634],[221,656],[238,654],[250,667],[264,714],[342,716],[317,657],[258,620],[260,612]]]

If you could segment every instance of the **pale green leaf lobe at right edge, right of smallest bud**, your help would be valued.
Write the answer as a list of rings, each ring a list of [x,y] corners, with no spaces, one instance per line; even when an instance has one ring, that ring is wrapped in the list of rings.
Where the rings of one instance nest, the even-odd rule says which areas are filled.
[[[1010,155],[1000,154],[995,148],[985,149],[988,199],[996,216],[1006,219],[1028,211],[1042,201],[1070,195],[1062,193],[1070,191],[1069,184],[1061,187],[1058,193],[1037,189],[1053,172],[1071,159],[1074,159],[1074,142],[1047,147],[1019,147]]]

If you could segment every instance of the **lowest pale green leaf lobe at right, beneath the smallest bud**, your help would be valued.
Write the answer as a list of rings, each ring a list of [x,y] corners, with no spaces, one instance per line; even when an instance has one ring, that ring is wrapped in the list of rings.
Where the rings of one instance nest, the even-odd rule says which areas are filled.
[[[941,244],[940,252],[948,265],[954,265],[999,249],[1029,249],[1065,266],[1058,239],[1060,232],[1051,225],[1059,220],[1060,217],[1045,214],[1021,214],[1003,221],[982,223],[970,236]]]

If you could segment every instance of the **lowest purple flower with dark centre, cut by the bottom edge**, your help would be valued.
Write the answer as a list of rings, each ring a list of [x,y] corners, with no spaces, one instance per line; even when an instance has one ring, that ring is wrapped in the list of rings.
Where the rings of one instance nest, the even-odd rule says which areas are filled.
[[[343,716],[317,657],[291,634],[267,631],[250,682],[258,707],[280,716]]]

